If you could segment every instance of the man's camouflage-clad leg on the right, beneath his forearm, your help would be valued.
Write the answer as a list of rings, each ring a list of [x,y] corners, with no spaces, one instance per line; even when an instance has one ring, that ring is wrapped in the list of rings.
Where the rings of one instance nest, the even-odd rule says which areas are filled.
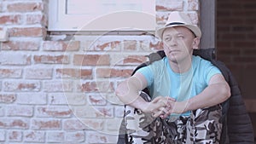
[[[186,141],[195,144],[218,144],[222,130],[221,117],[220,105],[191,112]]]

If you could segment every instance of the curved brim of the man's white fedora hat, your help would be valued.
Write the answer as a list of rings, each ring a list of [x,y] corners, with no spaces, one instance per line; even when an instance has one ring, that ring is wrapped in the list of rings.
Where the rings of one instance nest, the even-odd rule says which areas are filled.
[[[163,32],[166,30],[166,28],[175,27],[175,26],[184,26],[184,27],[187,27],[189,30],[191,30],[192,32],[194,32],[194,34],[195,34],[196,37],[201,37],[201,30],[199,29],[198,26],[194,26],[194,25],[172,25],[172,26],[162,27],[162,28],[158,29],[158,30],[155,32],[156,37],[159,37],[160,39],[162,39]]]

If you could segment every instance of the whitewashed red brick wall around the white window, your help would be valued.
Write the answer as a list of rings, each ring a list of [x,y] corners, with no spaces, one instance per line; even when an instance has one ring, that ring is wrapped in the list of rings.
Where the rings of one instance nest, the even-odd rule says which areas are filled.
[[[114,95],[144,55],[151,35],[47,36],[47,1],[0,1],[0,143],[115,143],[123,105]],[[157,0],[158,25],[170,10],[198,23],[198,0]],[[63,33],[61,33],[61,37]]]

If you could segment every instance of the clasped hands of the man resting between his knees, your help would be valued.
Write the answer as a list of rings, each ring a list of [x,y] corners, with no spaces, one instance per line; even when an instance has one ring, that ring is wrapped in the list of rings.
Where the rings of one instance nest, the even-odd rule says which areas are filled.
[[[185,106],[181,106],[181,102],[166,96],[158,96],[153,101],[147,102],[147,106],[143,107],[143,112],[151,113],[154,118],[166,118],[171,113],[182,113]]]

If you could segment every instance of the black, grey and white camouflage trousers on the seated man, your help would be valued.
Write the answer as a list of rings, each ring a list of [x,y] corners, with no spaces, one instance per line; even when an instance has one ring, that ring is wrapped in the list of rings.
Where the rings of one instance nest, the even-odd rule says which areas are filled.
[[[147,98],[150,101],[149,98]],[[129,144],[219,143],[221,106],[198,109],[190,116],[152,118],[140,110],[125,107],[125,133]]]

